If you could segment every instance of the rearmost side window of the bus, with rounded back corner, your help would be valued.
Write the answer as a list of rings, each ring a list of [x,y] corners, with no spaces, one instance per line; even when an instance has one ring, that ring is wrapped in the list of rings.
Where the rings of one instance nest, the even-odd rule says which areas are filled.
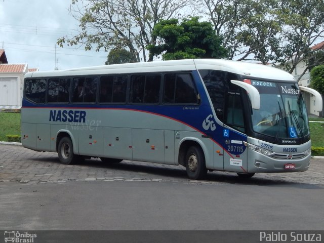
[[[45,103],[46,79],[27,79],[25,97],[35,103]]]

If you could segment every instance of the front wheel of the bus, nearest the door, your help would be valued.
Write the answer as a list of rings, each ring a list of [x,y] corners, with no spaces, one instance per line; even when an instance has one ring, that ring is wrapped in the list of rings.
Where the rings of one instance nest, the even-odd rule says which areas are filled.
[[[187,175],[190,179],[201,180],[206,177],[207,169],[205,155],[200,147],[189,147],[185,157],[185,165]]]

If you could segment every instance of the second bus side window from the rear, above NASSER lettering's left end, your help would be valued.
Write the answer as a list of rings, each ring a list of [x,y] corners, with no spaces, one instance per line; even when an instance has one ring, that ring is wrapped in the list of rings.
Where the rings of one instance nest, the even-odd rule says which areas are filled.
[[[47,102],[67,103],[70,99],[70,79],[50,78],[48,83]]]

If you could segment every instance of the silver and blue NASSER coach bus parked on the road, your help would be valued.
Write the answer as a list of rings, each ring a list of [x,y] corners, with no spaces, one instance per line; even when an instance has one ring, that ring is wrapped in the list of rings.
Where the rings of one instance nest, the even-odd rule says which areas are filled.
[[[182,165],[207,171],[303,172],[310,166],[308,117],[292,75],[218,59],[105,65],[28,72],[22,144],[85,157]]]

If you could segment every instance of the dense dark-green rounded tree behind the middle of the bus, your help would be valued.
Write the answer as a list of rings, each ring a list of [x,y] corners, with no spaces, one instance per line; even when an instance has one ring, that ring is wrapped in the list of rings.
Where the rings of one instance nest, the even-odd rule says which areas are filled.
[[[149,45],[147,50],[151,55],[162,54],[163,60],[227,56],[212,24],[199,22],[198,17],[184,19],[180,24],[178,19],[161,20],[154,26],[153,36],[160,39],[160,43]]]

